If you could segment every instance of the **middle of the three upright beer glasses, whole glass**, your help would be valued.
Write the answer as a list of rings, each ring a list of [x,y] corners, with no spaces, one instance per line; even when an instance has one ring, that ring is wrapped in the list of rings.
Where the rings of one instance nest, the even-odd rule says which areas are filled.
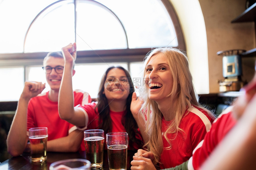
[[[103,166],[104,131],[92,129],[84,131],[86,159],[91,162],[91,168]]]

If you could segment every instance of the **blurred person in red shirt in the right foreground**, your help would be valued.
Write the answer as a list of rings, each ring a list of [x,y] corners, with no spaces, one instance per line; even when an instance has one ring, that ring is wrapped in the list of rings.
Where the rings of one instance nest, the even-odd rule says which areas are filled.
[[[193,150],[193,156],[168,170],[255,169],[256,74],[240,91],[243,94],[217,117],[205,138]],[[142,156],[137,157],[139,152]],[[152,152],[139,150],[138,154],[134,159],[143,164],[142,169],[154,169]]]

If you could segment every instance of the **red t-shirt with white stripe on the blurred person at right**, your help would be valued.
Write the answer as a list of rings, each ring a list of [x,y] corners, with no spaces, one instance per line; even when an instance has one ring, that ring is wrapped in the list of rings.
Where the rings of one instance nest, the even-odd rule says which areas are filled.
[[[189,170],[199,169],[199,167],[213,152],[214,148],[234,127],[237,121],[232,116],[231,109],[232,107],[227,108],[218,116],[218,118],[213,122],[210,131],[205,135],[204,140],[202,140],[202,142],[200,142],[193,151],[193,156],[188,161]]]

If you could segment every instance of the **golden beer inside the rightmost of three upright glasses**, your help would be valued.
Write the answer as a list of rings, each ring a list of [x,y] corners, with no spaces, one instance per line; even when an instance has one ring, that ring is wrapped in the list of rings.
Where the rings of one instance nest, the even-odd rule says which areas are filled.
[[[111,145],[107,148],[110,170],[127,169],[127,146]]]

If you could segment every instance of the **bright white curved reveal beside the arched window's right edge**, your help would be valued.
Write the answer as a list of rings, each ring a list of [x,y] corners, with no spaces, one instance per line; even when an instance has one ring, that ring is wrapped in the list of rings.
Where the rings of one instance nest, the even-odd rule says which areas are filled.
[[[170,0],[185,37],[190,70],[196,92],[209,93],[207,38],[204,17],[198,0]]]

